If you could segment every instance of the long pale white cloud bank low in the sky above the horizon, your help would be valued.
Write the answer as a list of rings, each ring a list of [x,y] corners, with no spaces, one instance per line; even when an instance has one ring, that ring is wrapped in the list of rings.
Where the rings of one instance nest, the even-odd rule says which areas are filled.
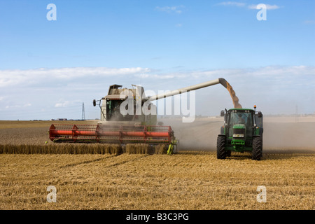
[[[99,74],[95,74],[96,71],[99,71]],[[63,75],[68,72],[70,78],[64,78]],[[76,77],[77,72],[82,78]],[[146,91],[153,90],[158,93],[158,90],[176,90],[216,78],[228,80],[242,106],[258,104],[266,113],[293,113],[295,104],[298,104],[300,113],[315,111],[315,66],[264,66],[191,71],[183,68],[180,71],[143,68],[61,68],[15,70],[10,73],[18,76],[19,82],[15,82],[14,76],[3,77],[3,73],[8,75],[8,70],[0,70],[0,80],[11,80],[14,84],[0,87],[0,115],[3,120],[56,117],[76,119],[81,117],[83,102],[85,115],[88,116],[90,113],[90,118],[99,118],[99,109],[92,106],[92,100],[104,97],[109,85],[131,87],[131,84],[141,83]],[[32,81],[36,81],[36,87],[29,84]],[[43,85],[45,86],[38,88]],[[207,105],[211,106],[209,111],[206,108],[202,109],[202,106],[197,109],[205,110],[204,113],[215,114],[222,107],[230,105],[230,95],[219,85],[198,90],[196,94],[200,96],[198,105],[204,105],[202,100],[207,99]],[[42,109],[45,111],[41,111]]]

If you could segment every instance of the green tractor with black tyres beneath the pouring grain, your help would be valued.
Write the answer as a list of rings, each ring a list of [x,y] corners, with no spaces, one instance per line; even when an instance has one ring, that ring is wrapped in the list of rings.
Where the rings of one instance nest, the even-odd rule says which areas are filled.
[[[221,111],[224,125],[217,141],[217,158],[224,160],[232,151],[251,152],[253,160],[262,158],[262,113],[254,109]]]

